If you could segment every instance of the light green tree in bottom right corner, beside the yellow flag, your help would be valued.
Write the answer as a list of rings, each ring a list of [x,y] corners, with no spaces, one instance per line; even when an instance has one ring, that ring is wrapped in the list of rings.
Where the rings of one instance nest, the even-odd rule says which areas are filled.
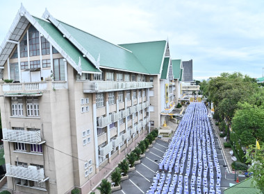
[[[247,149],[247,162],[251,164],[249,172],[253,173],[253,186],[264,191],[264,162],[263,162],[264,146],[257,150],[256,145],[249,145]]]

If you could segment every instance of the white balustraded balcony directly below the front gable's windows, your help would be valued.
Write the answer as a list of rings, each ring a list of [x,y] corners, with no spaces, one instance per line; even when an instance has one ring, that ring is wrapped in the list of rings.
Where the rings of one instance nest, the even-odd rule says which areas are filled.
[[[51,85],[49,85],[50,82]],[[3,83],[1,86],[5,96],[14,96],[14,92],[23,96],[31,92],[41,93],[43,90],[67,89],[67,82],[47,80],[46,82]]]

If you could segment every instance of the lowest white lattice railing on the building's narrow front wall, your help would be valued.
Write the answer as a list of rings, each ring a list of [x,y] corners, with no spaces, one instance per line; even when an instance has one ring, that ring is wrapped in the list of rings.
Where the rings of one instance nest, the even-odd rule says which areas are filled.
[[[6,164],[6,176],[41,182],[44,179],[44,169],[38,169],[36,166],[22,167]]]

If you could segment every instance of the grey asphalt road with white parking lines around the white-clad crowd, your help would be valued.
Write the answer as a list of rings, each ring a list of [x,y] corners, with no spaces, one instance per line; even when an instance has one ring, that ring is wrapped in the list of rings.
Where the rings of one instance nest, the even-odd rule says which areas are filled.
[[[213,130],[213,125],[211,123],[211,128]],[[215,135],[215,130],[213,130],[213,135],[215,139],[215,148],[217,150],[217,157],[221,168],[222,179],[221,179],[221,191],[224,193],[224,189],[229,187],[229,183],[236,183],[234,181],[234,175],[226,172],[226,161],[222,154],[220,148],[220,143]],[[158,139],[156,143],[153,144],[153,148],[149,148],[149,152],[146,152],[146,157],[141,159],[141,164],[135,166],[135,171],[129,173],[129,179],[121,183],[122,190],[114,192],[115,194],[135,194],[135,193],[146,193],[153,182],[153,177],[158,170],[158,162],[163,157],[163,153],[167,149],[168,143]],[[213,151],[211,153],[213,155]],[[187,160],[186,160],[187,162]],[[186,168],[187,165],[185,165]],[[183,170],[183,174],[185,174]],[[172,172],[174,173],[174,172]],[[226,174],[226,179],[225,179]],[[173,174],[172,174],[173,175]],[[215,175],[216,180],[216,175]],[[189,180],[190,181],[190,180]]]

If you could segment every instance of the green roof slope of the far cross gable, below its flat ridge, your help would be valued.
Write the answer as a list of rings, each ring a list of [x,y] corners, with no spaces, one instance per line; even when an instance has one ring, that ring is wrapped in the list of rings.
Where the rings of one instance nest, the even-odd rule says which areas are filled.
[[[140,60],[144,67],[150,74],[159,74],[160,66],[163,62],[163,55],[165,51],[166,41],[155,42],[139,42],[132,44],[119,44],[133,54]]]

